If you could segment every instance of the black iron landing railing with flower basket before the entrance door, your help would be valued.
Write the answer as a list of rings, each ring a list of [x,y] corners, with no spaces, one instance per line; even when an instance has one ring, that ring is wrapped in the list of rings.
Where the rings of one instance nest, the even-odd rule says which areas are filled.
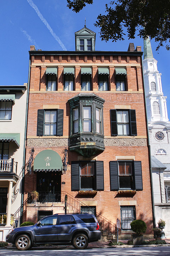
[[[28,203],[61,202],[61,192],[28,192]]]

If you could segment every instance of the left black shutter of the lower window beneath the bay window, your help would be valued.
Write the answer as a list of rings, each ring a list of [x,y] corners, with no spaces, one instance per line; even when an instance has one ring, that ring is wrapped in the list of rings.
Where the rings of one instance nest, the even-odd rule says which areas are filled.
[[[71,164],[72,175],[72,191],[79,191],[79,162],[72,161]]]

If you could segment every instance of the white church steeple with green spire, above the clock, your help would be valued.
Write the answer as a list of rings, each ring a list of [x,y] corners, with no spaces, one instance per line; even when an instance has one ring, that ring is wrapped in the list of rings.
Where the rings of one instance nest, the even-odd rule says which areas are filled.
[[[157,60],[153,58],[149,37],[144,39],[143,73],[148,122],[168,122],[166,96],[163,95],[161,73],[157,68]]]

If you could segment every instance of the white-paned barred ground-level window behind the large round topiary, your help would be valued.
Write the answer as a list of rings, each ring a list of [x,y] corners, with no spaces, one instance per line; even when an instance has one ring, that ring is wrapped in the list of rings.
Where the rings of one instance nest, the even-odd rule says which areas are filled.
[[[136,219],[135,206],[120,206],[121,229],[131,229],[130,223]]]

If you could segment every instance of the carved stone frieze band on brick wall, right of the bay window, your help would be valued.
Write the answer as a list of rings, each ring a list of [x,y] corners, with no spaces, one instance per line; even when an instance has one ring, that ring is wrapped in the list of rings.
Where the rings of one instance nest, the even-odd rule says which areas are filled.
[[[147,146],[147,139],[110,138],[104,139],[104,146]]]

